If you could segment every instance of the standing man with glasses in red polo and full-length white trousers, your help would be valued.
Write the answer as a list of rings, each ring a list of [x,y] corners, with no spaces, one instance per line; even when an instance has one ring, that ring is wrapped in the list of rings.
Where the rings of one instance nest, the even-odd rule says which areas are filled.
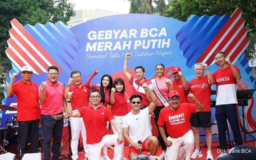
[[[71,85],[71,82],[73,84]],[[68,92],[72,92],[71,105],[72,109],[79,109],[83,106],[88,106],[89,100],[89,92],[90,90],[82,84],[82,76],[81,72],[78,70],[74,70],[71,72],[71,78],[69,78],[68,84],[66,85],[64,97],[68,98]],[[81,131],[81,135],[83,138],[83,148],[85,150],[85,157],[89,157],[88,148],[86,144],[86,131],[85,124],[83,123],[82,117],[69,117],[69,122],[71,126],[71,149],[72,149],[72,158],[78,159],[77,155],[77,146],[79,135]]]

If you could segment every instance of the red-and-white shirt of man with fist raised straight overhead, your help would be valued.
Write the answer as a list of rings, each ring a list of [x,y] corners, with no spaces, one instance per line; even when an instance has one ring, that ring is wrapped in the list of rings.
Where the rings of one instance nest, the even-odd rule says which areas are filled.
[[[144,79],[144,81],[142,83],[140,83],[139,80],[134,78],[133,76],[131,76],[131,78],[130,78],[130,84],[132,84],[132,86],[133,86],[133,94],[140,95],[142,97],[140,106],[149,106],[148,98],[146,97],[145,90],[142,87],[143,83],[149,84],[149,82],[147,82],[146,78]]]

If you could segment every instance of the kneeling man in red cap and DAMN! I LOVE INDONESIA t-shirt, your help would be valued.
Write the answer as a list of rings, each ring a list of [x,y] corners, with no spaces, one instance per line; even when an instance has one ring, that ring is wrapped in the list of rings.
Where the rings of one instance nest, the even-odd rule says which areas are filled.
[[[178,91],[171,90],[168,94],[170,107],[165,107],[160,111],[157,124],[167,146],[167,160],[176,160],[179,156],[180,148],[183,145],[185,145],[186,160],[190,160],[193,153],[195,141],[193,132],[190,129],[189,120],[191,114],[202,111],[203,106],[193,94],[188,94],[188,97],[195,101],[195,104],[180,103]],[[166,138],[164,125],[169,135],[168,138]]]

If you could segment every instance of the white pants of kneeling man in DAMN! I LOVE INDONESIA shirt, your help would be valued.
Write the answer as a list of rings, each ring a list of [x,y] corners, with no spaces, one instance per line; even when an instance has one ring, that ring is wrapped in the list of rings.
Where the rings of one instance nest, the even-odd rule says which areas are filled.
[[[193,154],[195,140],[193,131],[190,129],[182,137],[171,138],[168,137],[167,140],[172,141],[173,144],[166,149],[167,160],[177,160],[179,156],[179,151],[181,146],[185,146],[186,151],[186,160],[190,160],[191,155]]]

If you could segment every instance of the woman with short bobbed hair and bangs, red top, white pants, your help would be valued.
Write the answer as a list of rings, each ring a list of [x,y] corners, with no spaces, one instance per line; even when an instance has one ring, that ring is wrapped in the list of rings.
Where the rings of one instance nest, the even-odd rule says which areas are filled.
[[[114,115],[120,128],[122,128],[121,125],[123,123],[124,115],[128,113],[127,103],[130,103],[130,101],[126,99],[124,92],[125,92],[124,80],[122,78],[116,78],[115,81],[113,82],[113,88],[111,89],[110,103],[111,103],[111,112]],[[118,134],[115,128],[113,126],[111,127],[113,130],[113,133]],[[125,157],[123,157],[122,159],[127,160]]]

